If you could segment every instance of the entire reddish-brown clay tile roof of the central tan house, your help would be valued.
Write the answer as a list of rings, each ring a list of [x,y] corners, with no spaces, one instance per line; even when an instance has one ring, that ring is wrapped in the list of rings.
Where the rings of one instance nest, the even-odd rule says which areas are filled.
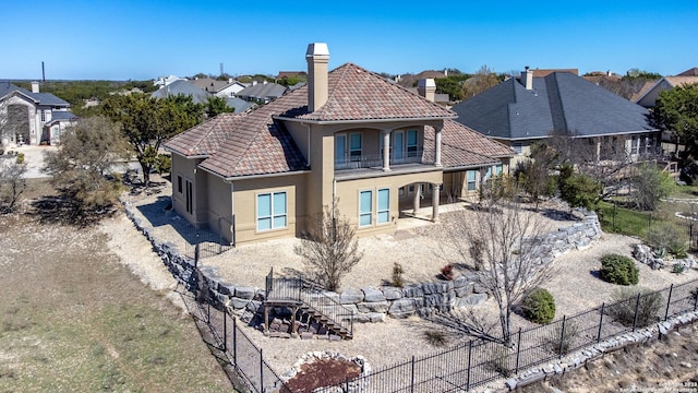
[[[222,178],[281,174],[309,169],[284,127],[284,118],[370,121],[448,119],[455,116],[354,64],[332,71],[328,82],[327,104],[314,114],[308,114],[305,86],[249,114],[219,115],[172,138],[164,146],[183,156],[207,156],[200,167]],[[425,136],[424,143],[431,143],[433,154],[433,129],[429,132],[432,142]],[[496,162],[486,155],[512,155],[508,147],[449,120],[444,127],[442,147],[444,162],[454,167]]]

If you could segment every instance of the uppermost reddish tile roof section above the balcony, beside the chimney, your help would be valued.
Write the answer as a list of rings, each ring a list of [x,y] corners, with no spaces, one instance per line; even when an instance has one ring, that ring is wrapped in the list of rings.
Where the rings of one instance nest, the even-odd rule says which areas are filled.
[[[308,107],[297,108],[284,116],[318,122],[452,119],[456,116],[441,105],[352,63],[332,71],[327,82],[327,102],[318,110],[308,112]],[[298,88],[296,93],[308,95],[308,86]]]

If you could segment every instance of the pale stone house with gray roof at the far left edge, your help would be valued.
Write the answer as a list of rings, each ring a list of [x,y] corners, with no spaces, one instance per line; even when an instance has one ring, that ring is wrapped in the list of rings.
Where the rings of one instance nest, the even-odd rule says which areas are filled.
[[[10,82],[0,82],[0,123],[8,130],[2,144],[58,144],[61,132],[77,117],[69,111],[70,104],[50,93],[39,93],[39,83],[32,91]]]

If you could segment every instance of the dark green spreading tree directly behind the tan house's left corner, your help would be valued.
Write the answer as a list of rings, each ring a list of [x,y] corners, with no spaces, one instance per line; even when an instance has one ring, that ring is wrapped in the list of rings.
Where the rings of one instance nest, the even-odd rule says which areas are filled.
[[[146,94],[131,94],[106,99],[101,111],[120,124],[135,152],[147,187],[160,144],[201,122],[203,107],[194,104],[191,96],[177,95],[158,100]]]

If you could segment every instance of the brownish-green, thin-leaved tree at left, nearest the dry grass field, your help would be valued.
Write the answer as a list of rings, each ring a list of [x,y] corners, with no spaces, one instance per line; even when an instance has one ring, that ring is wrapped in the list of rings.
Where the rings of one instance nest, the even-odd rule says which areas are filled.
[[[108,178],[130,155],[121,130],[106,117],[81,119],[61,135],[61,148],[46,152],[43,170],[74,203],[76,213],[112,205],[120,183]]]

